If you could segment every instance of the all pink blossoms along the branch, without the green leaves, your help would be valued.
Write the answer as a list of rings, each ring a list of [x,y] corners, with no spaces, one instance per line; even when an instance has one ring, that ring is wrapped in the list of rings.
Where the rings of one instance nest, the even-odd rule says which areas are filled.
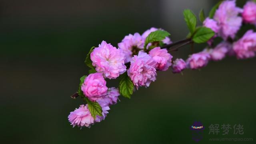
[[[201,69],[210,61],[219,61],[226,56],[236,56],[238,59],[254,57],[256,32],[248,30],[242,38],[235,39],[242,21],[256,24],[256,3],[249,1],[244,9],[241,9],[236,7],[236,0],[223,1],[213,19],[206,18],[203,22],[203,26],[211,28],[216,33],[208,41],[210,46],[201,52],[191,54],[186,60],[182,58],[172,60],[173,56],[168,49],[160,47],[160,43],[165,45],[172,43],[168,37],[161,42],[150,43],[144,49],[147,36],[162,29],[150,28],[141,35],[129,34],[118,43],[118,48],[102,41],[90,54],[96,73],[89,74],[80,87],[85,98],[100,105],[102,116],[92,117],[88,104],[82,104],[78,109],[70,112],[69,122],[73,126],[82,128],[90,127],[106,118],[110,106],[117,103],[120,95],[118,88],[106,86],[106,78],[116,79],[127,72],[128,78],[138,90],[141,86],[150,86],[150,83],[156,80],[157,71],[171,68],[173,73],[181,73],[185,69]],[[214,47],[213,40],[217,36],[222,37],[223,42]]]

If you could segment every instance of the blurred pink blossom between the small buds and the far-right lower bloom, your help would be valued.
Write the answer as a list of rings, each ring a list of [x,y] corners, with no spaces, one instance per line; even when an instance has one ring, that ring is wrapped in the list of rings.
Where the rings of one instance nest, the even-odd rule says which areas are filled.
[[[214,61],[222,60],[231,48],[232,46],[228,42],[218,44],[214,49],[210,49],[211,59]]]

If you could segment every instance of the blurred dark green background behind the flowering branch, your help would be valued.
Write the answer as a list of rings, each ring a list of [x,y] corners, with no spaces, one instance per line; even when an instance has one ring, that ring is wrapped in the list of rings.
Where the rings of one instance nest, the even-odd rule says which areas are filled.
[[[239,5],[245,0],[238,1]],[[208,14],[216,0],[1,0],[0,142],[3,144],[195,143],[189,127],[201,121],[208,138],[256,141],[256,59],[226,58],[198,71],[158,72],[157,81],[111,107],[103,122],[72,128],[67,116],[82,100],[70,95],[87,74],[84,59],[102,40],[114,46],[154,26],[172,41],[188,33],[182,11]],[[254,28],[248,26],[239,33]],[[255,29],[254,29],[255,30]],[[200,51],[205,45],[196,45]],[[186,59],[190,47],[173,52]],[[108,81],[108,86],[117,86]],[[243,135],[208,134],[210,124],[241,124]],[[234,143],[234,142],[222,142]]]

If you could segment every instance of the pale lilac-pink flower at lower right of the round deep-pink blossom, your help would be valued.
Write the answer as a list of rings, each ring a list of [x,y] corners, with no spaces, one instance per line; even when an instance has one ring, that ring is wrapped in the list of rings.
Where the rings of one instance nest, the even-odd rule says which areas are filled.
[[[99,98],[97,102],[105,106],[111,106],[117,103],[118,96],[120,96],[118,88],[108,88],[108,92],[102,98]]]

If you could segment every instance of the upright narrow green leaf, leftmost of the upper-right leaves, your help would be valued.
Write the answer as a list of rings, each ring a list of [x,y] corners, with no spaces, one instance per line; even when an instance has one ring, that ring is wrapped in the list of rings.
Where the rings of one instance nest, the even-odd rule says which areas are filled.
[[[187,23],[187,26],[188,26],[188,29],[189,29],[190,33],[193,34],[195,29],[196,29],[196,16],[195,16],[195,14],[191,10],[186,9],[186,10],[184,10],[183,15],[184,15],[184,19]]]

